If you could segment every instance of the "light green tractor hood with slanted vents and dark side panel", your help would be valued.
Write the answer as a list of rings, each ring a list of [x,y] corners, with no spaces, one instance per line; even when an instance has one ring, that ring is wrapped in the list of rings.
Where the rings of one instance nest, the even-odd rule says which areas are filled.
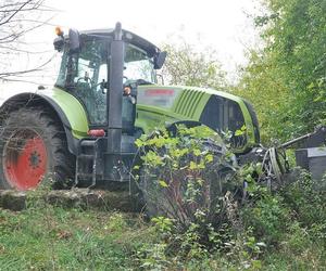
[[[260,141],[255,114],[239,96],[193,87],[151,85],[138,88],[137,127],[149,132],[181,120],[199,121],[220,132],[246,129],[239,152]]]

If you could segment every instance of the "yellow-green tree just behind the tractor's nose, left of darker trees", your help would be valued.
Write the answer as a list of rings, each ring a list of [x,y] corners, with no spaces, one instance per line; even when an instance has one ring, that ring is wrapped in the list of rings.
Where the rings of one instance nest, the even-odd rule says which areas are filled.
[[[261,139],[268,144],[291,128],[291,119],[281,115],[288,112],[290,95],[272,55],[251,51],[249,57],[250,64],[241,72],[241,80],[234,92],[253,104],[261,125]]]

